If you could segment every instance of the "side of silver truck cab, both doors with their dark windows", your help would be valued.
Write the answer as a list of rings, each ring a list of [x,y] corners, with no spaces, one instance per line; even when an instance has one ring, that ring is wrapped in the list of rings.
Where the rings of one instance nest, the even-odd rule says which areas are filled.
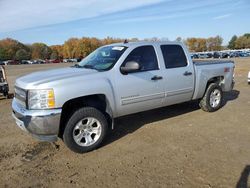
[[[118,115],[191,100],[195,73],[185,50],[181,43],[132,43],[114,72]],[[131,62],[138,63],[137,70],[121,71]]]

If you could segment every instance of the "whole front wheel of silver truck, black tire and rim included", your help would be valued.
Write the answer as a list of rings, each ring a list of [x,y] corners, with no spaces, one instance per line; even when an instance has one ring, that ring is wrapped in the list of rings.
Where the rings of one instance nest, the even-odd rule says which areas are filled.
[[[77,110],[69,119],[63,141],[74,152],[85,153],[102,143],[108,130],[104,114],[93,107]]]

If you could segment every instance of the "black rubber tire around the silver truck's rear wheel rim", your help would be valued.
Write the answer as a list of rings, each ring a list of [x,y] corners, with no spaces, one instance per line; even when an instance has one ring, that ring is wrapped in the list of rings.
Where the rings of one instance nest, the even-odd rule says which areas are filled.
[[[218,98],[220,98],[220,100],[218,101],[218,104],[216,104],[215,106],[212,106],[210,104],[210,96],[211,94],[216,91],[219,92]],[[220,97],[219,97],[220,96]],[[208,87],[207,90],[205,92],[205,95],[203,96],[203,98],[201,99],[199,106],[201,107],[202,110],[204,110],[205,112],[215,112],[216,110],[220,109],[222,106],[222,101],[223,101],[223,92],[221,90],[221,87],[218,84],[215,83],[211,83]]]

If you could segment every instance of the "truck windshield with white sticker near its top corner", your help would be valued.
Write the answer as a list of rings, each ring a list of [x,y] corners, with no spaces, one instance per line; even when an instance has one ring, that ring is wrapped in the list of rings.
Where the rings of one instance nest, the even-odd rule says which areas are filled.
[[[98,71],[109,70],[115,65],[126,49],[127,47],[125,46],[100,47],[85,57],[75,67],[96,69]]]

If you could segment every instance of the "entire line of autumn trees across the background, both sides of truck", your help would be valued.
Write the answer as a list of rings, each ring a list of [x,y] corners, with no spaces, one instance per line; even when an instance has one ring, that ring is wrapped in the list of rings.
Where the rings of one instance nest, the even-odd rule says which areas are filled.
[[[44,43],[23,44],[17,40],[6,38],[0,40],[0,60],[28,60],[28,59],[63,59],[63,58],[84,58],[96,48],[123,42],[125,39],[107,37],[98,38],[70,38],[62,45],[48,46]],[[168,40],[167,38],[159,39],[157,37],[144,39],[144,41]],[[250,48],[250,33],[242,36],[233,36],[228,46],[222,46],[223,39],[220,36],[209,38],[187,38],[185,40],[178,37],[177,41],[184,42],[190,51],[218,51],[225,48],[242,49]],[[137,38],[128,41],[139,41]]]

